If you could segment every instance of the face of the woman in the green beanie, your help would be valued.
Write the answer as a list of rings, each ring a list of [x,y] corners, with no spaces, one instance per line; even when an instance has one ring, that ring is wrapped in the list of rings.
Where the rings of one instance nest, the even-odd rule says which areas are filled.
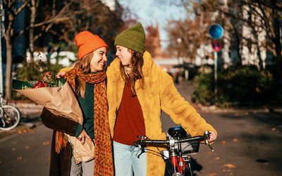
[[[128,48],[125,48],[121,45],[116,45],[116,56],[119,58],[123,66],[132,67],[131,58],[133,54]]]

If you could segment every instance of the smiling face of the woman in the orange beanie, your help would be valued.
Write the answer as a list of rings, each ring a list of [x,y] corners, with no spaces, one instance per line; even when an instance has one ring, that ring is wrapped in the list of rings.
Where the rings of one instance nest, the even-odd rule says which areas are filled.
[[[91,72],[100,72],[106,65],[106,47],[103,46],[93,51],[93,57],[90,61]]]

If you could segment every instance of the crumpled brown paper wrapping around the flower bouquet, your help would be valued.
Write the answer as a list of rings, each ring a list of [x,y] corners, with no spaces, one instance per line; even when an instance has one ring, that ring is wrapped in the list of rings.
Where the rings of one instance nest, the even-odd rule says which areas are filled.
[[[71,118],[75,122],[80,123],[80,125],[83,124],[82,111],[68,82],[63,84],[63,87],[15,90],[35,103],[44,106],[54,115]],[[81,161],[87,162],[94,158],[94,143],[91,139],[87,139],[85,144],[82,145],[76,137],[68,134],[66,136],[68,137],[68,142],[73,147],[75,163],[78,164]]]

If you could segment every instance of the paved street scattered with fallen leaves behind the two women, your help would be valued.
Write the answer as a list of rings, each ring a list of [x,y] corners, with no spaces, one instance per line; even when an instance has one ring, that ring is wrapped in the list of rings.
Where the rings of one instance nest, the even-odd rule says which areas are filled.
[[[190,84],[178,89],[189,99]],[[282,115],[264,109],[200,111],[219,132],[212,153],[207,146],[193,156],[195,175],[281,175]],[[38,116],[38,115],[37,115]],[[48,175],[51,130],[39,118],[36,127],[0,139],[0,175]],[[163,129],[173,122],[163,115]],[[20,127],[18,127],[20,128]]]

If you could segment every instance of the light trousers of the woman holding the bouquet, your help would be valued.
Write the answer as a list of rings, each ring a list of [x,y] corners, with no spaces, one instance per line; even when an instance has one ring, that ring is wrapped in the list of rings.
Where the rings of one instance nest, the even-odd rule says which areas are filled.
[[[75,164],[75,158],[73,158],[73,156],[71,157],[70,176],[93,176],[93,175],[94,175],[94,159],[92,159],[92,161]]]

